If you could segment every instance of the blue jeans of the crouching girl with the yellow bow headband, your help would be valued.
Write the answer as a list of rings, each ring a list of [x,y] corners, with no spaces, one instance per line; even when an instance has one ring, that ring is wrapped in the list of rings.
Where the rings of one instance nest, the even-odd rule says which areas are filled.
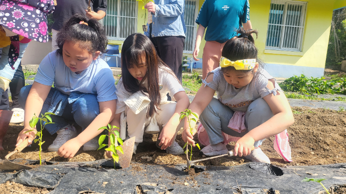
[[[227,126],[228,123],[230,123],[233,113],[234,111],[231,110],[231,108],[223,105],[216,98],[212,98],[209,105],[204,109],[199,120],[206,129],[211,144],[224,141],[222,132],[234,137],[243,137],[250,130],[268,121],[273,116],[267,102],[262,98],[258,98],[249,105],[245,114],[245,126],[247,130],[238,133]],[[254,147],[260,146],[263,141],[264,140],[256,141]]]

